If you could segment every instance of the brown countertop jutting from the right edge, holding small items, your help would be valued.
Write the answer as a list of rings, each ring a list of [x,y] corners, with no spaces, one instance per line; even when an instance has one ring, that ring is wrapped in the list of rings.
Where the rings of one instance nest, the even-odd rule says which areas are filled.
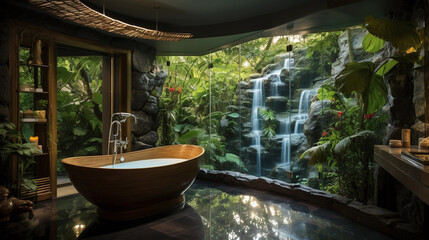
[[[390,148],[385,145],[376,145],[374,146],[374,160],[429,205],[429,165],[402,157],[402,151],[428,152],[418,149],[417,146]]]

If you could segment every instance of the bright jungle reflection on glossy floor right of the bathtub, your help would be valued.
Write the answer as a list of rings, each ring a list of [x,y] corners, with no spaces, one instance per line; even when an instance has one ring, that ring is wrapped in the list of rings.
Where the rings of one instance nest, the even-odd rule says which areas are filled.
[[[390,239],[324,209],[256,195],[194,186],[187,199],[205,239]]]

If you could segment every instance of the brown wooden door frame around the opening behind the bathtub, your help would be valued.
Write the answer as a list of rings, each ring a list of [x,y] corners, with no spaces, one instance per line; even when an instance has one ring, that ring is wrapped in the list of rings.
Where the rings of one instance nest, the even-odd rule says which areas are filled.
[[[9,57],[9,80],[10,80],[10,90],[11,90],[11,103],[9,108],[10,120],[11,122],[17,124],[18,121],[18,106],[16,103],[16,91],[17,91],[17,69],[19,68],[19,53],[16,53],[18,34],[21,31],[37,32],[37,36],[41,39],[47,40],[49,44],[49,115],[50,115],[50,149],[52,153],[50,155],[50,174],[51,174],[51,186],[52,186],[52,198],[57,196],[57,44],[68,45],[72,47],[82,48],[91,51],[97,51],[100,53],[108,54],[110,59],[106,62],[103,61],[103,67],[110,67],[110,71],[103,71],[103,149],[102,153],[107,153],[107,135],[109,134],[109,125],[110,125],[110,116],[113,111],[121,112],[131,112],[131,50],[121,49],[112,47],[106,44],[99,42],[78,38],[74,36],[69,36],[66,34],[58,33],[52,30],[40,26],[34,26],[27,23],[21,23],[12,21],[9,24],[10,29],[10,57]],[[118,68],[115,69],[114,59],[118,61]],[[115,73],[118,72],[118,74]],[[105,75],[107,74],[107,75]],[[115,76],[117,78],[115,79]],[[105,81],[109,81],[109,84],[106,84]],[[118,82],[118,88],[114,89],[115,80]],[[52,87],[51,87],[52,86]],[[55,89],[53,89],[55,88]],[[118,99],[115,99],[116,96],[119,96]],[[105,102],[106,101],[106,102]],[[119,101],[118,109],[113,108],[113,102]],[[126,126],[123,129],[123,132],[126,133],[124,137],[131,139],[131,121],[127,121]],[[129,148],[131,149],[131,141],[129,141]],[[17,176],[17,161],[12,160],[12,179]]]

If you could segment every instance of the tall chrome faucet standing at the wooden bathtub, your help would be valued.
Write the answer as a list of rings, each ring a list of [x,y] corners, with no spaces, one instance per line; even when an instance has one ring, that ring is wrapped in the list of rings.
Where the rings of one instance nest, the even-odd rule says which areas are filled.
[[[125,138],[125,141],[122,140],[121,124],[125,123],[129,117],[133,117],[134,122],[137,123],[137,117],[132,113],[118,112],[118,113],[112,114],[112,117],[110,118],[109,140],[107,141],[107,155],[110,154],[110,144],[113,143],[113,154],[115,155],[113,158],[113,166],[115,166],[116,164],[118,148],[120,150],[119,154],[122,155],[123,150],[124,149],[126,150],[128,146],[128,137]],[[113,120],[114,118],[116,118],[116,120]],[[116,131],[112,135],[113,126],[116,127]],[[113,140],[111,140],[111,137],[113,137]],[[124,162],[125,158],[121,156],[119,161]]]

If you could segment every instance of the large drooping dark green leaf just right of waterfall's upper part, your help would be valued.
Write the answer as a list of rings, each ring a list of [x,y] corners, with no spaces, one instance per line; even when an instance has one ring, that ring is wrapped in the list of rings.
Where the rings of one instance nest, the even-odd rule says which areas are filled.
[[[387,88],[383,78],[374,73],[374,63],[351,62],[338,74],[335,85],[343,94],[362,94],[364,113],[374,113],[384,106]]]

